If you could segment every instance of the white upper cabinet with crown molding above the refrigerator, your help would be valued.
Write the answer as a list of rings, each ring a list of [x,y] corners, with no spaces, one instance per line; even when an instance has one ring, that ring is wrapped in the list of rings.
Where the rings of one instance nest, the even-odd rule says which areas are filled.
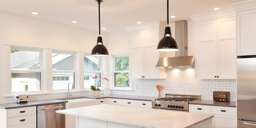
[[[237,56],[256,55],[256,1],[229,5],[236,11]]]

